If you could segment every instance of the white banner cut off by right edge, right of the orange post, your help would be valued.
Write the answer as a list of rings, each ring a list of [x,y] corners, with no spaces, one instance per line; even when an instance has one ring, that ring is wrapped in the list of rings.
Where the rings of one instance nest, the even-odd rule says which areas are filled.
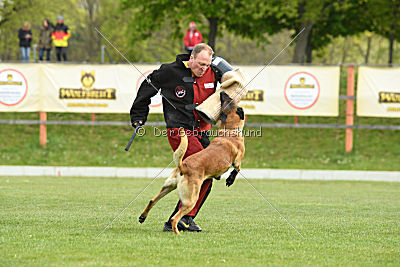
[[[357,115],[400,117],[400,68],[358,68]]]

